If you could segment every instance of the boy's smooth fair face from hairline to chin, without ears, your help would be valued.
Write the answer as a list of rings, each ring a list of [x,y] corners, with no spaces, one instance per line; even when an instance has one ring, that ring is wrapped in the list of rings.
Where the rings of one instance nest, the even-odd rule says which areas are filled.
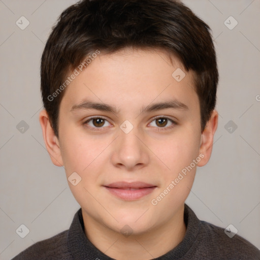
[[[159,50],[98,55],[67,87],[58,132],[83,218],[116,232],[173,219],[205,164],[192,72]]]

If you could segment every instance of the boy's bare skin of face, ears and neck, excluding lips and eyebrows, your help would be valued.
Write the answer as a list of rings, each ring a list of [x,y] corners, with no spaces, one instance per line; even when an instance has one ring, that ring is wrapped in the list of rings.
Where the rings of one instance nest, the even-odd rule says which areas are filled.
[[[181,68],[186,76],[177,82],[172,73]],[[85,99],[105,103],[118,114],[77,109]],[[184,109],[161,109],[140,114],[150,104],[176,99]],[[102,126],[91,116],[102,116]],[[154,117],[170,118],[161,126]],[[125,134],[120,125],[128,120],[134,128]],[[92,244],[116,259],[146,260],[163,255],[184,238],[184,202],[192,187],[197,166],[207,164],[217,128],[214,110],[203,133],[199,98],[193,72],[163,50],[123,49],[101,53],[66,88],[59,110],[59,138],[48,114],[40,113],[46,148],[56,166],[64,166],[67,178],[76,172],[82,180],[70,189],[82,208],[85,234]],[[172,128],[170,128],[173,126]],[[95,128],[94,128],[95,127]],[[95,131],[94,129],[98,129]],[[156,199],[181,170],[200,154],[200,162],[161,199]],[[143,181],[157,186],[135,201],[115,197],[104,186],[116,181]],[[124,236],[128,225],[133,232]]]

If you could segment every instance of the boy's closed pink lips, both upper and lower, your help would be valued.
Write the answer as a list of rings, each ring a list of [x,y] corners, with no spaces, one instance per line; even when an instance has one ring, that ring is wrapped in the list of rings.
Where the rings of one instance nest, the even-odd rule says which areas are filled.
[[[114,182],[104,185],[112,194],[125,201],[138,200],[151,193],[156,186],[144,182]]]

